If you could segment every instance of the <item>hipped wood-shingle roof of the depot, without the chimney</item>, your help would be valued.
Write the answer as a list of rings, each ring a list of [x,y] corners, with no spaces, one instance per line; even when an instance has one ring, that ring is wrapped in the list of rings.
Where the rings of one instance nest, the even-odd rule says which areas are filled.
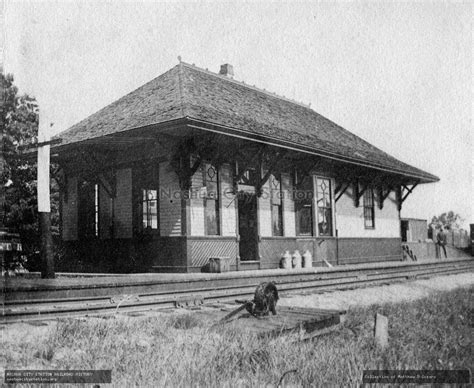
[[[423,182],[439,180],[307,106],[183,62],[57,137],[62,146],[180,118],[277,139],[294,148],[402,172]]]

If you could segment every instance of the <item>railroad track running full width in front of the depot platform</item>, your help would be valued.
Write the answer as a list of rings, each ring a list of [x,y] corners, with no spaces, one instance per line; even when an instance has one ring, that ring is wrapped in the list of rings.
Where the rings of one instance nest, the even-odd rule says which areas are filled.
[[[420,264],[396,263],[387,264],[386,267],[338,267],[325,272],[274,271],[272,274],[253,273],[249,277],[231,278],[229,275],[186,282],[149,281],[93,284],[82,288],[33,288],[6,294],[1,323],[143,312],[250,298],[256,285],[268,280],[275,281],[280,294],[284,296],[295,292],[344,290],[472,271],[474,260],[461,259]]]

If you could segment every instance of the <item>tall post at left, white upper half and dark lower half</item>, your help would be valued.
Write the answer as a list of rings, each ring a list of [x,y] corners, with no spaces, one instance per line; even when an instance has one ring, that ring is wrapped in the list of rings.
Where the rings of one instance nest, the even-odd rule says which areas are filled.
[[[51,204],[49,192],[50,144],[49,128],[40,114],[38,126],[38,217],[41,232],[41,277],[52,279],[54,274],[53,238],[51,235]]]

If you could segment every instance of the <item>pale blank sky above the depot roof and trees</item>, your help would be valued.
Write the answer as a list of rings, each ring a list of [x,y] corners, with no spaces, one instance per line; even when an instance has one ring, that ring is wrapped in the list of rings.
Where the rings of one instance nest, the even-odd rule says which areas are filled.
[[[4,0],[4,70],[63,131],[183,61],[295,99],[440,182],[402,217],[474,223],[470,1]]]

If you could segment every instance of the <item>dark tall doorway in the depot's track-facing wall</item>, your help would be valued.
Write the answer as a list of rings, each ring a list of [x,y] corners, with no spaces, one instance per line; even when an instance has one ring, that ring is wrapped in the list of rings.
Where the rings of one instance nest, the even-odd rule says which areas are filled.
[[[241,261],[256,261],[258,257],[257,196],[246,193],[238,199],[239,254]]]

